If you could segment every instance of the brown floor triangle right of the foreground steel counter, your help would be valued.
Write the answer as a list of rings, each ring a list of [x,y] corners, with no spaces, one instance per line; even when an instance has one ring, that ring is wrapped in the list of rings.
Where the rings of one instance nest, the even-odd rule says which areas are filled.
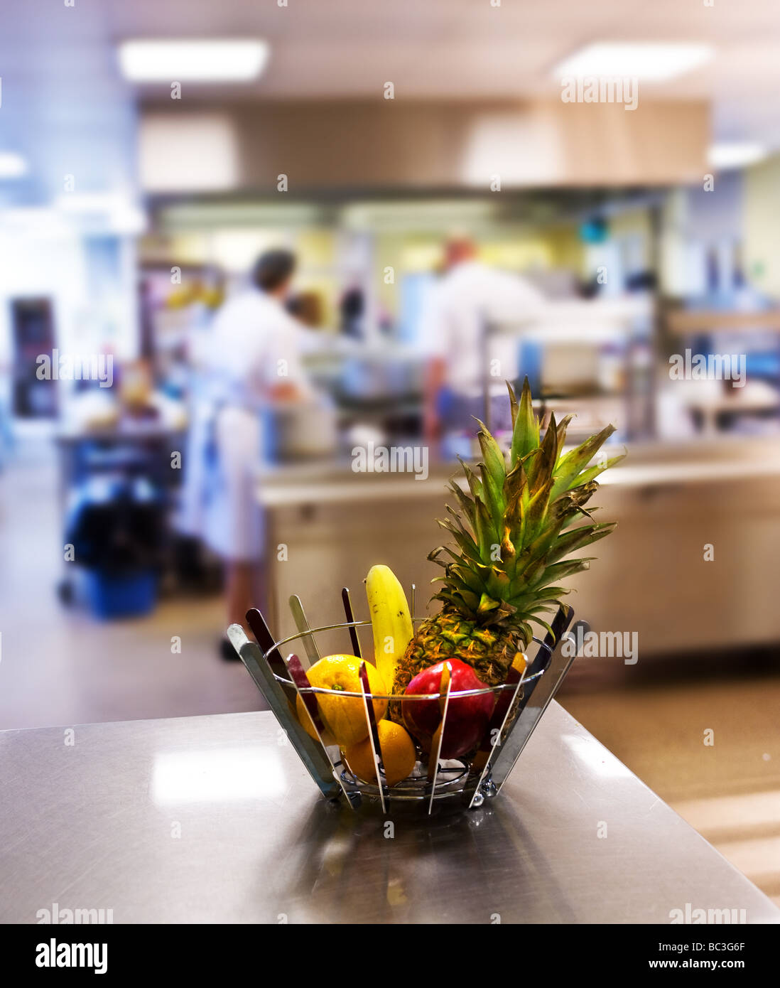
[[[780,905],[779,677],[580,692],[561,701]]]

